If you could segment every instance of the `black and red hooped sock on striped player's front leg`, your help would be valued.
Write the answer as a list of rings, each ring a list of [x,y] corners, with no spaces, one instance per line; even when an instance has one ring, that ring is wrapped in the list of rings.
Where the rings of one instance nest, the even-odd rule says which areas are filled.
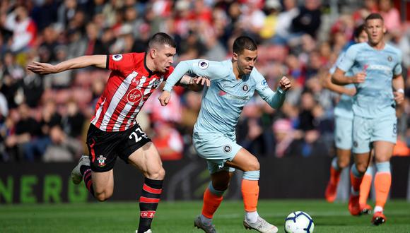
[[[151,222],[158,202],[160,201],[160,195],[163,191],[163,181],[153,180],[145,178],[144,186],[142,187],[141,197],[139,198],[139,226],[138,232],[146,232],[151,229]]]

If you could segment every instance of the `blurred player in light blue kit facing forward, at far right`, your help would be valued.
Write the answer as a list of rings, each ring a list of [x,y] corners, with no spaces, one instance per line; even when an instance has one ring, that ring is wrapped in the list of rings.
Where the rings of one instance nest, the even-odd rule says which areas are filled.
[[[353,98],[353,156],[351,167],[351,196],[348,210],[360,214],[359,196],[361,181],[375,151],[376,203],[372,222],[386,221],[383,208],[392,182],[390,157],[397,140],[396,104],[404,101],[402,52],[385,44],[386,31],[382,16],[371,13],[365,18],[368,43],[354,44],[339,62],[332,82],[343,85],[355,83],[357,94]],[[345,76],[351,70],[354,76]]]

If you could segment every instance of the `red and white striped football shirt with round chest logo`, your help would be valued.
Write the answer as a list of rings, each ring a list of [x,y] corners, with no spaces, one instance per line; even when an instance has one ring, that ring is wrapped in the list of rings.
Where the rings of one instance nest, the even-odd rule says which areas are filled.
[[[125,131],[136,123],[136,115],[151,93],[174,70],[153,73],[146,67],[145,53],[107,56],[112,72],[97,104],[91,123],[102,131]]]

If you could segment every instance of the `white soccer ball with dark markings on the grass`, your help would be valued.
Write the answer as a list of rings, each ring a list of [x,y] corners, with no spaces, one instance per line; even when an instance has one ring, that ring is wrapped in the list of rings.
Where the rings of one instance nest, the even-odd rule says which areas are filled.
[[[285,220],[287,233],[312,233],[315,228],[312,217],[303,211],[295,211]]]

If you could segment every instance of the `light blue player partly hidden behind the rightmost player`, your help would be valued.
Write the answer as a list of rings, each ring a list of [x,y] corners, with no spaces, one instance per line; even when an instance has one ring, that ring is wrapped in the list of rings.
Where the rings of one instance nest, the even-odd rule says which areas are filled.
[[[353,33],[356,43],[368,42],[368,34],[365,32],[365,25],[360,25]],[[331,77],[336,70],[337,64],[343,59],[344,52],[341,53],[336,61],[336,64],[330,69],[327,79],[324,81],[324,88],[341,94],[341,98],[334,108],[334,141],[336,144],[336,157],[332,160],[330,166],[330,179],[327,184],[324,196],[329,203],[333,203],[336,199],[336,189],[340,180],[341,170],[350,164],[351,148],[353,147],[353,95],[356,94],[354,84],[336,85],[332,83]],[[346,72],[346,76],[353,76],[351,70]],[[371,207],[367,204],[367,199],[372,182],[372,167],[368,167],[363,177],[360,191],[361,213],[370,213]]]

